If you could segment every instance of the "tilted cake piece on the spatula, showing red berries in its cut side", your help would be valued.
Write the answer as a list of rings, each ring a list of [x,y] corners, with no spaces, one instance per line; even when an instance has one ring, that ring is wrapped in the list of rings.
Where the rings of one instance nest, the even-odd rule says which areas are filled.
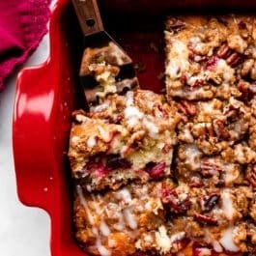
[[[163,96],[130,91],[73,116],[71,170],[87,190],[117,189],[130,180],[145,183],[170,175],[180,114]]]

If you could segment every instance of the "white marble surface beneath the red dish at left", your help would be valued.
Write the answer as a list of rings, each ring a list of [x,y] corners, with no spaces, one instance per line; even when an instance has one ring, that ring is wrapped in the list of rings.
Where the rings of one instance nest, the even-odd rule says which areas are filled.
[[[48,35],[25,67],[41,64],[48,56]],[[19,71],[20,69],[18,69]],[[50,256],[50,220],[43,210],[23,206],[17,198],[12,122],[17,72],[0,94],[0,255]]]

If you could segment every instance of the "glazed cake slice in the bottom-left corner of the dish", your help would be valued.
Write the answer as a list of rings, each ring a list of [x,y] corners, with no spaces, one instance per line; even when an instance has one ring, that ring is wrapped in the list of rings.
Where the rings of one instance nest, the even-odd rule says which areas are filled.
[[[80,246],[102,256],[132,255],[136,248],[155,250],[157,230],[167,226],[161,189],[162,182],[154,182],[92,194],[77,185],[74,222]]]

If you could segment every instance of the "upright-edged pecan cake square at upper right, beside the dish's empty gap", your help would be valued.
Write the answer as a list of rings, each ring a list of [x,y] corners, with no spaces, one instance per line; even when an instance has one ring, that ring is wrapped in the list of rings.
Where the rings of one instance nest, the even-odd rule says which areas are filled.
[[[256,80],[255,22],[255,17],[242,15],[169,17],[165,26],[169,100],[243,98],[242,84]]]

